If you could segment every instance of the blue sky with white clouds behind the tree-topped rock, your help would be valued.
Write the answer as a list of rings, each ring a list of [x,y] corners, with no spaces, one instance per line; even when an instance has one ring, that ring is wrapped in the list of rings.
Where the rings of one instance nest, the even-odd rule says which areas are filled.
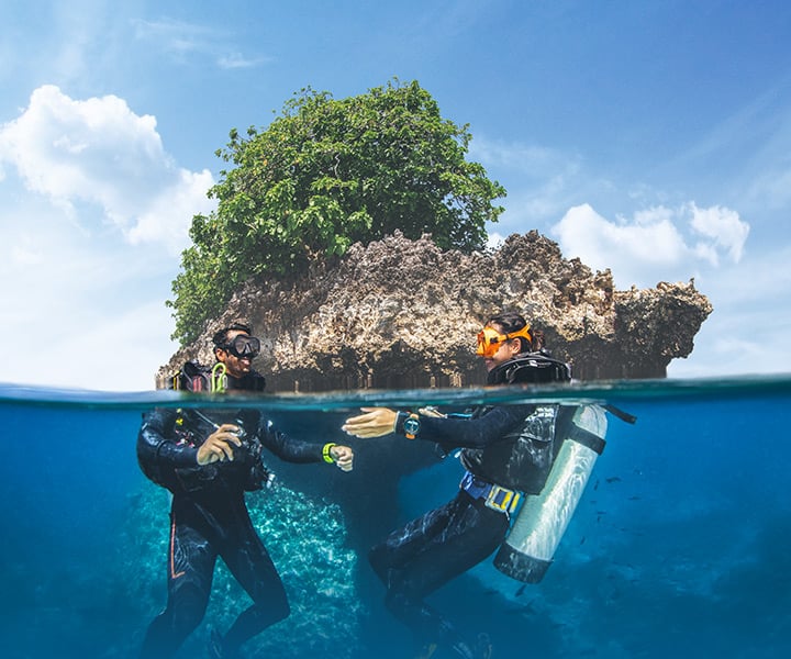
[[[791,372],[791,3],[0,4],[0,381],[146,390],[229,131],[417,80],[537,228],[714,313],[673,378]]]

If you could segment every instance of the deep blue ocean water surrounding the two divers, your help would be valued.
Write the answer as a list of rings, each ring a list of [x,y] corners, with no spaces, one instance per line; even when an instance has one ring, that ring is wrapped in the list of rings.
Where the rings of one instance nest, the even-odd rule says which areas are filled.
[[[292,614],[247,656],[412,656],[367,550],[452,499],[463,469],[426,443],[353,440],[342,422],[360,405],[523,400],[608,402],[637,422],[608,415],[606,447],[543,581],[522,584],[489,558],[433,606],[488,633],[494,659],[791,656],[791,376],[235,399],[292,435],[356,450],[352,473],[267,457],[276,487],[247,501]],[[0,386],[0,657],[136,656],[165,605],[169,505],[136,462],[141,414],[221,404]],[[247,605],[220,566],[178,657],[205,656],[209,629]]]

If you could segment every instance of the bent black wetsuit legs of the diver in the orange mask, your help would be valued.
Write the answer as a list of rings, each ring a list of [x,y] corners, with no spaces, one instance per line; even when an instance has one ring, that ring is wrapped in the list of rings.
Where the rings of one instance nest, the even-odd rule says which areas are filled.
[[[438,520],[443,523],[437,524]],[[423,599],[494,551],[506,530],[504,514],[459,493],[450,504],[410,523],[375,547],[371,565],[380,578],[385,577],[385,603],[413,630],[420,645],[446,645],[461,657],[474,656],[453,625]],[[410,532],[420,541],[409,537]],[[402,560],[406,556],[408,560]]]

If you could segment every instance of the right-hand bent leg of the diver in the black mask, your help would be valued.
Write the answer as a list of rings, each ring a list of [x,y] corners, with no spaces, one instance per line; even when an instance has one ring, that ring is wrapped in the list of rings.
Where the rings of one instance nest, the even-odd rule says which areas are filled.
[[[289,616],[286,589],[264,543],[247,515],[239,514],[229,544],[220,555],[253,600],[222,639],[222,655],[233,656],[247,640]]]

